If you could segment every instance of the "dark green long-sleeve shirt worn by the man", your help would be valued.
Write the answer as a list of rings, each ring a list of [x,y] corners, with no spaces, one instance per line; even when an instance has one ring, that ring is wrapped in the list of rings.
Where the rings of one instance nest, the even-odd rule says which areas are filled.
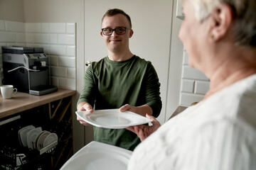
[[[149,105],[154,117],[161,111],[160,83],[151,64],[134,55],[131,59],[114,62],[108,57],[92,62],[84,77],[84,87],[78,103],[86,101],[95,110]],[[126,129],[94,127],[94,140],[133,150],[140,142]]]

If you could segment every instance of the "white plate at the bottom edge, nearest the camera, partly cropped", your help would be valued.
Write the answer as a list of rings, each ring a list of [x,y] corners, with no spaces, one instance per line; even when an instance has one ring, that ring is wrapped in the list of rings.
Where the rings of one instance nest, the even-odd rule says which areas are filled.
[[[132,151],[92,141],[75,153],[60,170],[126,170]]]

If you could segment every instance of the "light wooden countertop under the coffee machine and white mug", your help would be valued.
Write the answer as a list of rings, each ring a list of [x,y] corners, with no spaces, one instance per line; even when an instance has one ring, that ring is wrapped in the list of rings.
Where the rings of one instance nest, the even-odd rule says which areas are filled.
[[[17,92],[12,98],[4,99],[0,95],[0,118],[19,113],[21,111],[26,111],[52,101],[57,101],[61,98],[73,96],[75,94],[76,91],[74,90],[58,88],[58,91],[43,96]]]

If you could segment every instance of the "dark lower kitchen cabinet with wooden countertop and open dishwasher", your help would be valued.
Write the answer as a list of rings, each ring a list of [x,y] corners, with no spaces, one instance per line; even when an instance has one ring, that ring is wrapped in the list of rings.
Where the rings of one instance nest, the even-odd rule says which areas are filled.
[[[8,100],[0,97],[0,169],[60,169],[73,155],[75,94],[73,90],[58,89],[43,96],[17,92]],[[58,144],[40,150],[23,147],[18,130],[27,125],[54,132]]]

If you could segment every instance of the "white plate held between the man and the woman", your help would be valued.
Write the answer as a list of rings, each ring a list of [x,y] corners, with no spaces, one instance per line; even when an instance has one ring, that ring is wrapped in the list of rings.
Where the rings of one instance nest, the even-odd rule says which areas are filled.
[[[97,110],[92,113],[76,111],[75,113],[91,125],[110,129],[127,128],[132,125],[142,125],[152,121],[130,111],[119,112],[119,109]]]

